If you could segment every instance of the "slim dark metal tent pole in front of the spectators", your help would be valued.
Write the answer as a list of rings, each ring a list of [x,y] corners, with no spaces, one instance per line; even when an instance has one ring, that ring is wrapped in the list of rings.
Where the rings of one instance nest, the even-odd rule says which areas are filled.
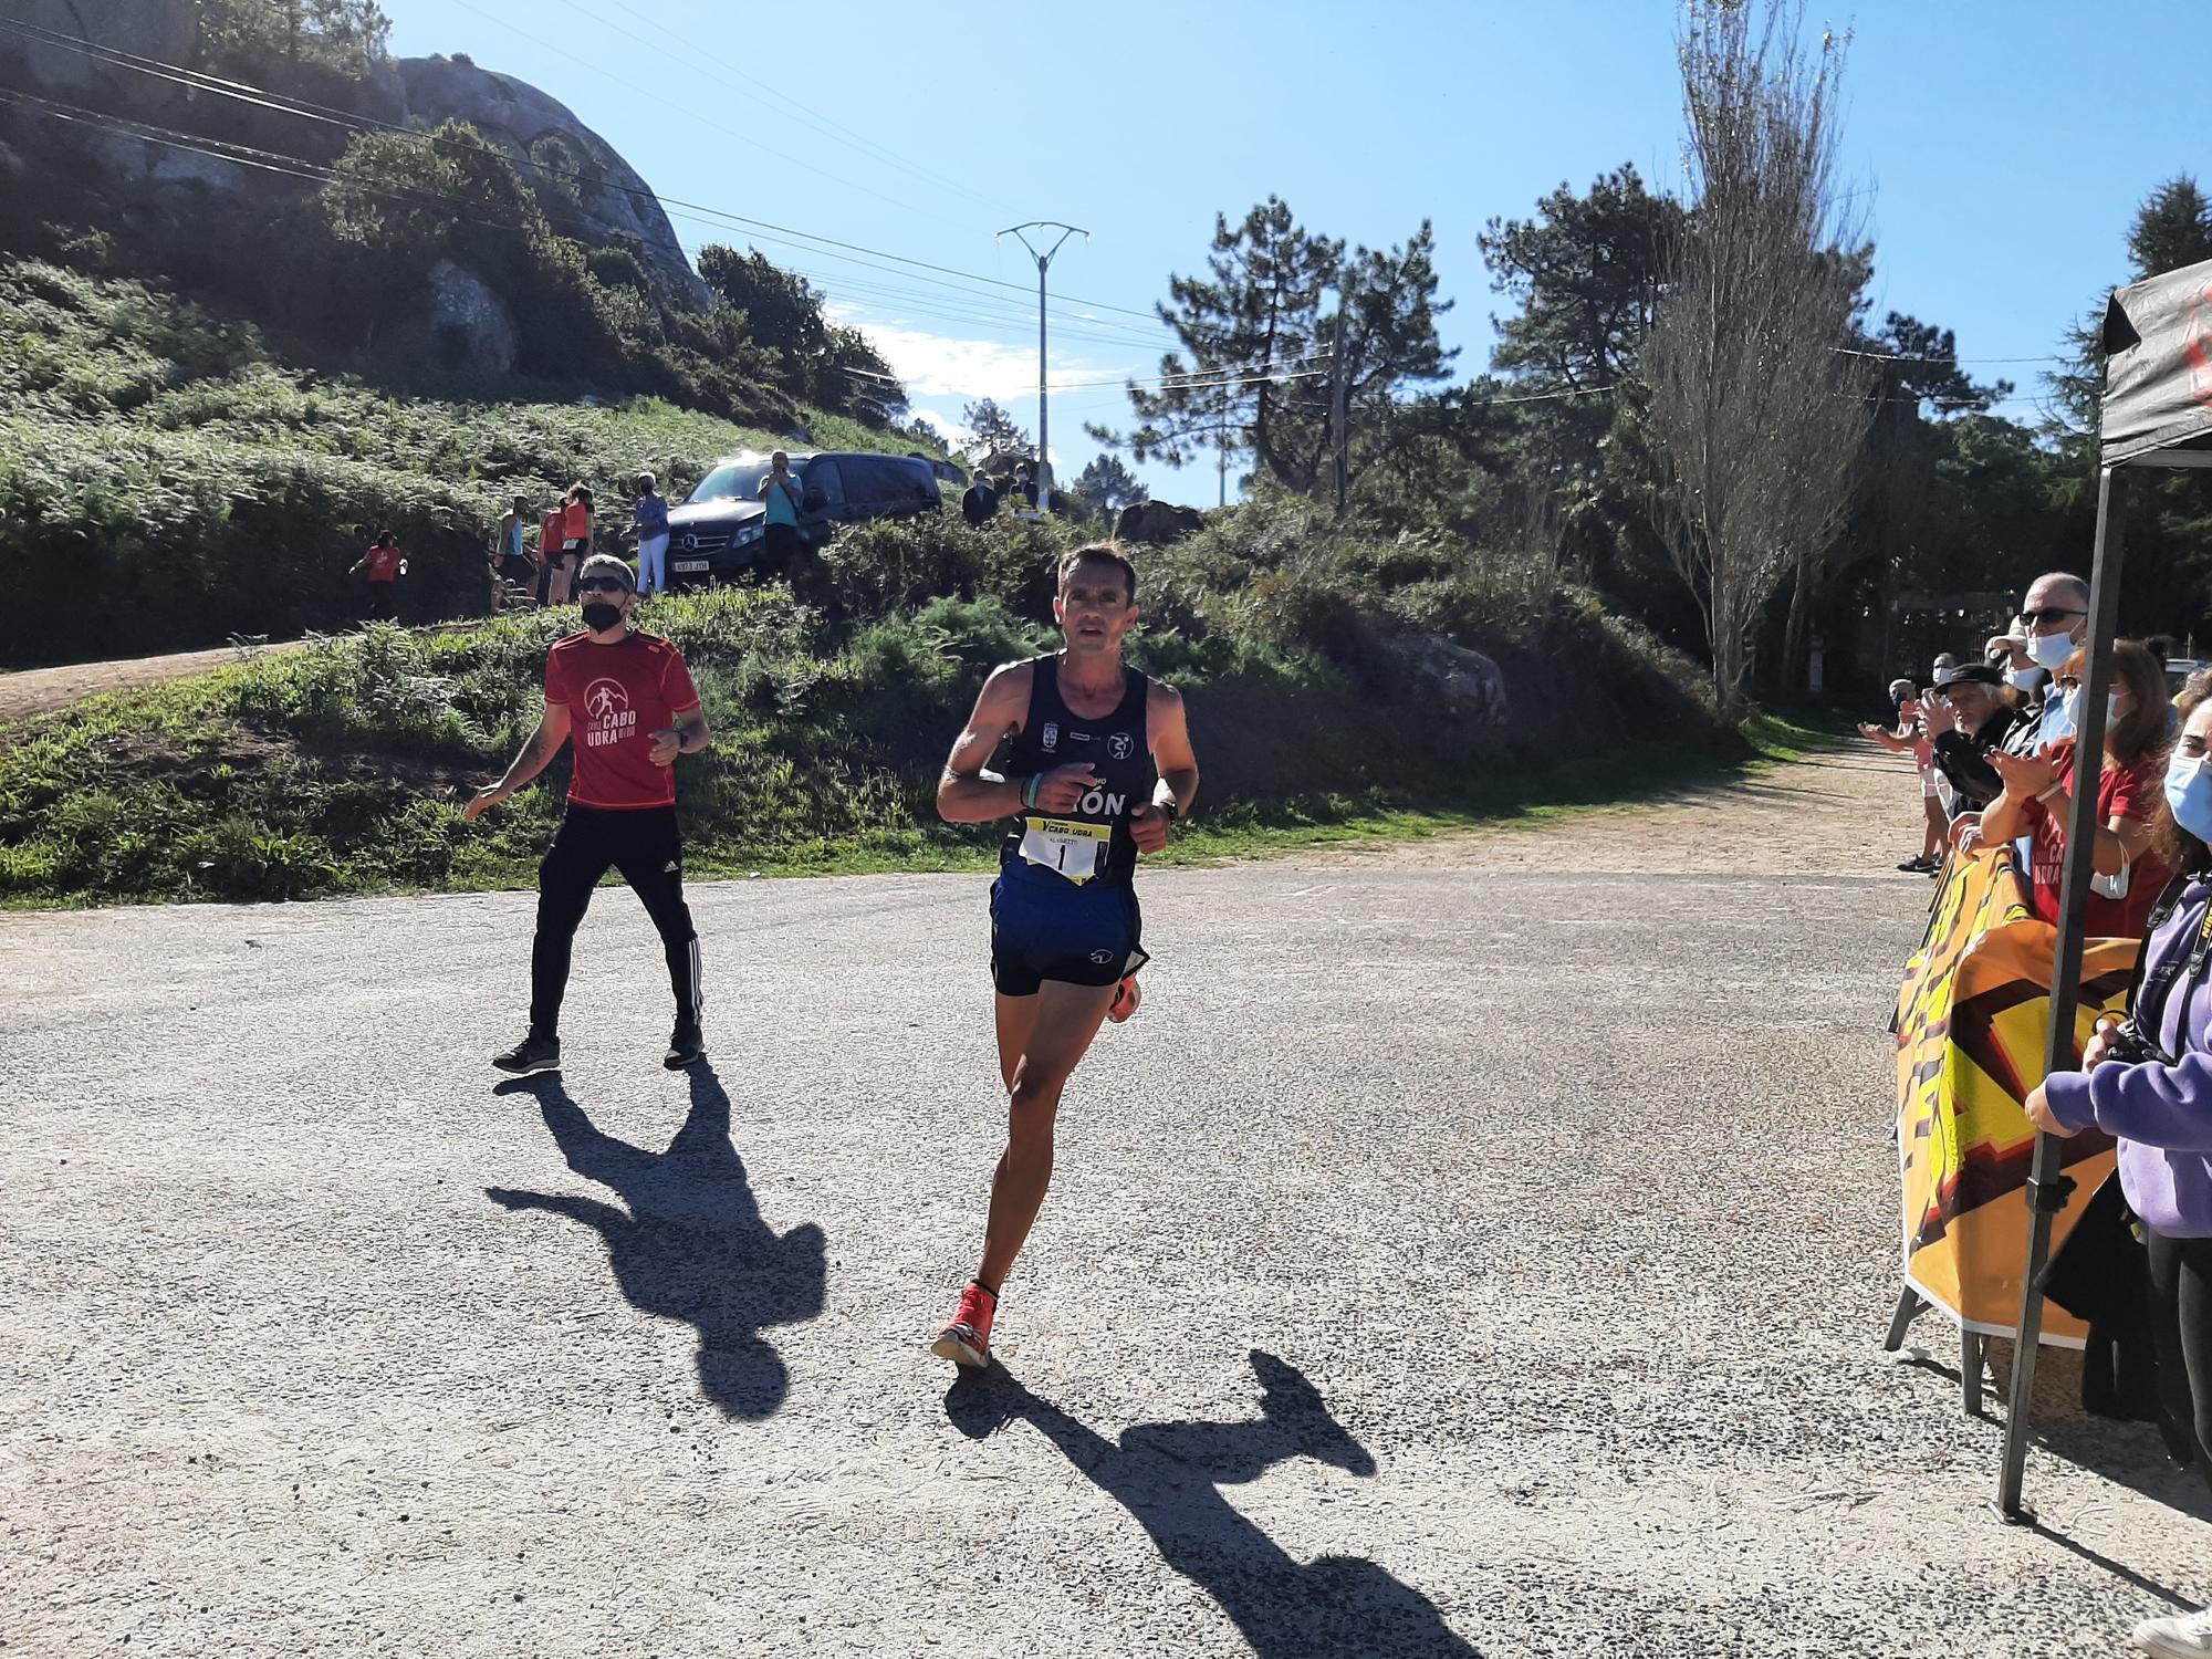
[[[2088,918],[2090,865],[2097,852],[2097,794],[2104,783],[2104,695],[2112,681],[2112,628],[2119,619],[2119,566],[2126,538],[2126,489],[2117,467],[2097,473],[2097,555],[2088,584],[2088,661],[2081,666],[2081,712],[2075,721],[2073,803],[2066,814],[2066,880],[2059,887],[2059,938],[2051,964],[2051,1042],[2044,1075],[2073,1071],[2075,1002],[2081,993],[2081,933]],[[2035,1281],[2051,1256],[2051,1217],[2066,1208],[2073,1181],[2059,1172],[2059,1137],[2035,1135],[2028,1166],[2028,1261],[2020,1283],[2020,1336],[2013,1343],[2013,1387],[2004,1409],[2004,1464],[1997,1471],[1995,1511],[2008,1522],[2033,1522],[2020,1502],[2028,1460],[2028,1416],[2035,1400],[2035,1354],[2044,1334],[2044,1296]]]

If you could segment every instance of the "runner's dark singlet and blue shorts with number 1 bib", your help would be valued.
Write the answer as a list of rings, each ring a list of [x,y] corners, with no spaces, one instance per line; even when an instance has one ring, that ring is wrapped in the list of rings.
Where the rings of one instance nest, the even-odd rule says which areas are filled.
[[[1006,836],[991,883],[991,978],[1004,995],[1035,995],[1044,980],[1113,984],[1148,960],[1128,832],[1128,814],[1150,805],[1159,783],[1148,701],[1150,681],[1126,668],[1113,712],[1077,719],[1060,697],[1060,657],[1031,664],[1029,719],[1006,776],[1082,761],[1099,783],[1071,812],[1024,810]]]

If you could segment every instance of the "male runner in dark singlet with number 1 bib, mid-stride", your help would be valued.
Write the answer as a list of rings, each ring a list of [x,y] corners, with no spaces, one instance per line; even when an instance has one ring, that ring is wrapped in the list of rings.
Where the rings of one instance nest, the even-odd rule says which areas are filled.
[[[971,1367],[991,1363],[998,1290],[1053,1179],[1060,1093],[1146,962],[1137,854],[1166,847],[1199,792],[1183,699],[1121,664],[1137,622],[1130,562],[1110,544],[1068,553],[1053,617],[1066,648],[993,670],[938,781],[947,823],[1015,818],[991,885],[1006,1150],[982,1265],[929,1349]],[[1009,739],[1004,774],[987,772]]]

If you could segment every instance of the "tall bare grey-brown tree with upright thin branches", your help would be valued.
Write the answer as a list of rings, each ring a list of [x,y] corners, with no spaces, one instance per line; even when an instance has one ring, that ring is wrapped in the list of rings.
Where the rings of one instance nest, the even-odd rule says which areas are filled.
[[[1655,526],[1739,710],[1781,582],[1812,584],[1849,509],[1871,374],[1847,356],[1867,274],[1836,195],[1845,42],[1801,0],[1686,0],[1677,44],[1692,210],[1644,343]]]

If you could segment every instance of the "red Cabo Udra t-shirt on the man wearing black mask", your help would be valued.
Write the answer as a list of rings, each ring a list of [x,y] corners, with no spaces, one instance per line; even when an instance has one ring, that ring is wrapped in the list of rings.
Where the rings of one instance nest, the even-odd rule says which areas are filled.
[[[617,812],[675,805],[677,770],[653,765],[653,734],[699,708],[681,650],[653,633],[633,630],[615,646],[573,633],[546,653],[546,703],[568,708],[571,801]]]

